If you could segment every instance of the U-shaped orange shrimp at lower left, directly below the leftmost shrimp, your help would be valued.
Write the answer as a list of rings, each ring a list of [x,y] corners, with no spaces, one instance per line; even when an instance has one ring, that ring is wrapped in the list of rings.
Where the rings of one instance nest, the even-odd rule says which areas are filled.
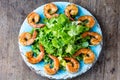
[[[33,52],[32,51],[26,52],[26,57],[28,59],[28,62],[30,62],[32,64],[36,64],[43,59],[44,54],[45,54],[44,53],[44,48],[43,48],[42,45],[40,45],[39,47],[40,47],[41,53],[37,57],[33,57]]]

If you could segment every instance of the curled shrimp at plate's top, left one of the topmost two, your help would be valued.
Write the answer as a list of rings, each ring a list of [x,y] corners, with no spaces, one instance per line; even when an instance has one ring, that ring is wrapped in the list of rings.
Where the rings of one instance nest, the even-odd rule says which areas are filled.
[[[48,3],[44,6],[44,15],[50,19],[52,17],[57,17],[58,14],[56,14],[58,8],[55,4],[53,3]]]

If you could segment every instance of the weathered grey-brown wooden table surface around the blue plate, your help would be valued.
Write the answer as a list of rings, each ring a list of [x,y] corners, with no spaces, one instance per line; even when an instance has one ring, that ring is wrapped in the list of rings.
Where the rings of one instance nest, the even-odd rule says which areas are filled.
[[[48,80],[23,62],[18,33],[25,17],[42,4],[56,0],[0,0],[0,80]],[[97,63],[72,80],[120,80],[120,0],[62,0],[81,5],[99,21],[103,50]]]

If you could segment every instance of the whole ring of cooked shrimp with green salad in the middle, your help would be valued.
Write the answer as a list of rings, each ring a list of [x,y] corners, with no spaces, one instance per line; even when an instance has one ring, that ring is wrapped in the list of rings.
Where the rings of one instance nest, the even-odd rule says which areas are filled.
[[[68,4],[64,13],[58,13],[59,7],[54,3],[44,5],[44,18],[37,12],[27,16],[30,32],[22,32],[19,43],[31,46],[32,50],[25,53],[30,64],[44,61],[44,72],[55,75],[59,70],[71,74],[77,73],[84,64],[95,62],[96,55],[89,46],[99,45],[102,35],[91,31],[96,20],[91,15],[76,18],[79,9],[74,3]]]

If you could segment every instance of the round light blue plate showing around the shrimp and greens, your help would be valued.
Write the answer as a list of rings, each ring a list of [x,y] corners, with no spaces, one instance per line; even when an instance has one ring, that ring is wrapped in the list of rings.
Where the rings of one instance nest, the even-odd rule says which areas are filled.
[[[64,13],[64,9],[66,8],[66,6],[68,4],[70,4],[69,2],[53,2],[54,4],[57,5],[58,7],[58,13]],[[79,13],[78,15],[76,16],[76,19],[79,18],[80,16],[82,15],[91,15],[93,16],[89,11],[87,11],[85,8],[77,5],[78,8],[79,8]],[[34,10],[34,12],[38,13],[40,16],[41,16],[41,19],[43,19],[45,16],[43,14],[43,8],[44,8],[44,5],[38,7],[37,9]],[[95,17],[94,17],[95,18]],[[96,20],[96,19],[95,19]],[[27,23],[27,20],[25,19],[25,21],[23,22],[22,26],[21,26],[21,29],[20,29],[20,32],[19,32],[19,35],[22,33],[22,32],[30,32],[32,30],[32,27]],[[100,29],[100,25],[98,23],[98,21],[96,20],[96,23],[94,25],[94,27],[91,29],[91,31],[93,32],[97,32],[99,34],[102,35],[102,31]],[[19,43],[19,42],[18,42]],[[95,53],[95,56],[96,56],[96,60],[98,59],[99,55],[100,55],[100,52],[101,52],[101,49],[102,49],[102,43],[103,41],[97,45],[97,46],[91,46],[90,49]],[[59,70],[55,75],[47,75],[45,72],[44,72],[44,62],[41,61],[39,62],[38,64],[30,64],[26,57],[25,57],[25,53],[27,51],[30,51],[31,50],[31,46],[22,46],[20,43],[19,43],[19,49],[20,49],[20,54],[22,55],[23,57],[23,60],[25,61],[25,63],[33,70],[35,71],[37,74],[41,75],[41,76],[44,76],[44,77],[48,77],[50,79],[68,79],[68,78],[73,78],[73,77],[76,77],[78,75],[81,75],[83,73],[85,73],[87,70],[89,70],[93,64],[84,64],[83,61],[80,61],[80,69],[77,73],[74,73],[74,74],[71,74],[67,71],[63,71],[63,70]],[[96,62],[95,60],[95,62]]]

